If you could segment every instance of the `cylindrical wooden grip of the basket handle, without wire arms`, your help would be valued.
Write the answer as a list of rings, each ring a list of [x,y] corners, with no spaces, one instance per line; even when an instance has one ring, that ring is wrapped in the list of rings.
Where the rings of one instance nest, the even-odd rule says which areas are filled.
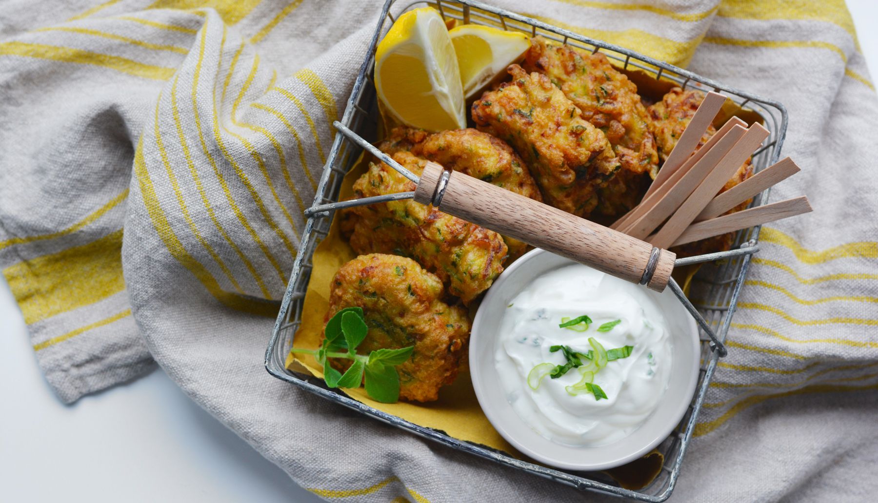
[[[443,173],[446,173],[443,176]],[[652,245],[459,172],[428,162],[414,200],[594,269],[640,283]],[[664,291],[676,255],[659,249],[646,286]]]

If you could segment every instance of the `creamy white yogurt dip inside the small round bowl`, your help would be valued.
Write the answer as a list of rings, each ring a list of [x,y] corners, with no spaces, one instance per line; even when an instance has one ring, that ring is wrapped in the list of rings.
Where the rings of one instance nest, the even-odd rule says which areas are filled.
[[[582,315],[592,320],[587,328],[558,327]],[[637,285],[581,264],[551,270],[525,287],[505,309],[498,334],[494,364],[508,402],[530,428],[560,444],[597,447],[630,435],[659,406],[671,377],[673,346],[659,306]],[[570,392],[568,386],[581,385],[578,368],[558,378],[543,375],[532,389],[528,376],[537,365],[568,361],[553,346],[585,355],[594,348],[589,338],[607,350],[631,347],[630,356],[594,371],[592,382],[606,399]]]

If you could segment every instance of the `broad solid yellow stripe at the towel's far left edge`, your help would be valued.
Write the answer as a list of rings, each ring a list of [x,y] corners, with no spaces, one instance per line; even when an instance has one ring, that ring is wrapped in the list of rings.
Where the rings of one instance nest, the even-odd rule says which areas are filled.
[[[122,229],[3,271],[28,325],[125,290]]]

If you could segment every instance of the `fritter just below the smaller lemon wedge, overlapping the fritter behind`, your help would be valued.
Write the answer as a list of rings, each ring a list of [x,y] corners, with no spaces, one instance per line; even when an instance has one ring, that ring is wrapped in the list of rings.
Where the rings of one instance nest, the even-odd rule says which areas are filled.
[[[515,148],[547,203],[587,216],[598,203],[596,189],[619,169],[607,137],[546,75],[518,65],[507,71],[513,81],[473,103],[472,119]]]

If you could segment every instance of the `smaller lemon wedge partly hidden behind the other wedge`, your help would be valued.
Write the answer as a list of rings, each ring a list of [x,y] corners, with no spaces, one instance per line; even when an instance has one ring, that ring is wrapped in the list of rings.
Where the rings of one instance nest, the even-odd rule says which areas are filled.
[[[457,54],[464,98],[483,90],[504,70],[519,61],[530,47],[527,35],[480,25],[461,25],[448,34]]]

